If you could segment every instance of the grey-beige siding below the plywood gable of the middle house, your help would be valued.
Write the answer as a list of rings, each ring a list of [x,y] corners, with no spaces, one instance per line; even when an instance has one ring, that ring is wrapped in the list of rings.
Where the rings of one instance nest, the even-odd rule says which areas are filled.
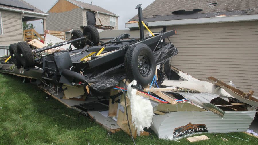
[[[83,26],[83,9],[81,8],[60,13],[48,12],[48,14],[49,15],[46,17],[47,30],[63,31],[64,29]]]

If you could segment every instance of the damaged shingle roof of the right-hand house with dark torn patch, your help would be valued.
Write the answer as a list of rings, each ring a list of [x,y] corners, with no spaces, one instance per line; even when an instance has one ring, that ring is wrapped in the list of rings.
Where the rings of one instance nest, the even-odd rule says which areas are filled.
[[[191,14],[173,14],[178,10],[202,11]],[[197,19],[220,15],[251,15],[258,14],[257,0],[155,0],[142,11],[144,21],[168,21],[179,19]],[[138,14],[130,21],[138,21]]]

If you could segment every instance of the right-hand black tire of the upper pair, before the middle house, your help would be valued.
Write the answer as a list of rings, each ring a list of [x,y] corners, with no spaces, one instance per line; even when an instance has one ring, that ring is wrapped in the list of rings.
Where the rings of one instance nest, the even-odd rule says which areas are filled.
[[[87,36],[87,33],[91,34],[91,38],[89,38],[89,40],[91,40],[93,42],[94,45],[98,45],[99,44],[99,32],[97,30],[97,28],[94,25],[87,25],[83,28],[83,35]],[[86,42],[89,45],[89,42]]]

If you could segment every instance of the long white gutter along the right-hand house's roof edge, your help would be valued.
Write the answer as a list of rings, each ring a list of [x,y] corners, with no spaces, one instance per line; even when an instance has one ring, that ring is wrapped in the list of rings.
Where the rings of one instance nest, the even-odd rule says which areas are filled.
[[[153,21],[153,22],[147,22],[147,24],[148,26],[173,26],[173,25],[225,23],[225,22],[241,22],[241,21],[256,21],[256,20],[258,20],[258,14],[209,17],[209,18],[198,18],[198,19],[181,19],[181,20],[170,20],[170,21]],[[139,27],[138,23],[126,24],[126,28],[134,28],[134,27]]]

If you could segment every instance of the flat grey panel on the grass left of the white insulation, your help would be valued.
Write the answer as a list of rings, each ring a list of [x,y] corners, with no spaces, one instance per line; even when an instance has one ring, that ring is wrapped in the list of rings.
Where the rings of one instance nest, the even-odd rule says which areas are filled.
[[[101,113],[99,113],[99,111],[89,111],[88,114],[105,129],[110,129],[110,132],[112,133],[121,130],[115,120],[111,119],[110,117],[103,116]]]

